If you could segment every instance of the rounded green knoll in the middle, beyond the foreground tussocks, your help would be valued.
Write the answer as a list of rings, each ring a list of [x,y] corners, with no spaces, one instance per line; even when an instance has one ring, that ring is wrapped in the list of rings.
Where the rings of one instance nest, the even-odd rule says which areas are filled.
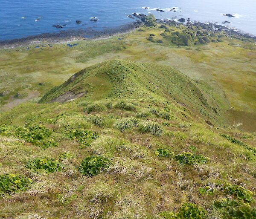
[[[39,103],[65,102],[81,96],[92,100],[124,97],[175,100],[204,119],[220,120],[221,108],[212,95],[170,66],[106,61],[76,73],[47,92]]]

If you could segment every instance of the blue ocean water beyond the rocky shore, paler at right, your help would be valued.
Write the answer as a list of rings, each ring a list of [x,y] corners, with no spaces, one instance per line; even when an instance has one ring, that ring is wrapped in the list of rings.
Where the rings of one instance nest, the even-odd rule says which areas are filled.
[[[170,11],[173,7],[176,12]],[[256,35],[256,0],[0,0],[0,40],[68,29],[113,28],[133,22],[127,15],[134,12],[219,24],[228,20],[228,26]],[[98,21],[90,21],[91,17]],[[76,24],[76,20],[82,23]]]

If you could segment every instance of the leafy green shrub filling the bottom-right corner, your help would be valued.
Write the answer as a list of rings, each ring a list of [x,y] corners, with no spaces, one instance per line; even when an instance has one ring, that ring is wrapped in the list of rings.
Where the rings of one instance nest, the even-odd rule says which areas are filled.
[[[241,200],[215,200],[212,210],[221,213],[225,219],[256,219],[256,208]]]

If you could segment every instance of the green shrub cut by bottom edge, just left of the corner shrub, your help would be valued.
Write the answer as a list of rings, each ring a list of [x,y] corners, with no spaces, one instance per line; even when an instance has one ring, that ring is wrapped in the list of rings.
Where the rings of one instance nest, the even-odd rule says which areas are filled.
[[[176,213],[176,218],[178,219],[206,219],[207,212],[204,208],[192,204],[185,203]]]

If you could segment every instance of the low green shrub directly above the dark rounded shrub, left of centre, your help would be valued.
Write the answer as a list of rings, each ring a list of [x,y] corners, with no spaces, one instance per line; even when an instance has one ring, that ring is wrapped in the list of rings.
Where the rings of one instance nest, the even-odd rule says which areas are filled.
[[[80,143],[80,147],[84,148],[90,146],[93,139],[98,138],[99,134],[84,129],[70,129],[67,131],[67,136],[70,139],[76,139]]]

